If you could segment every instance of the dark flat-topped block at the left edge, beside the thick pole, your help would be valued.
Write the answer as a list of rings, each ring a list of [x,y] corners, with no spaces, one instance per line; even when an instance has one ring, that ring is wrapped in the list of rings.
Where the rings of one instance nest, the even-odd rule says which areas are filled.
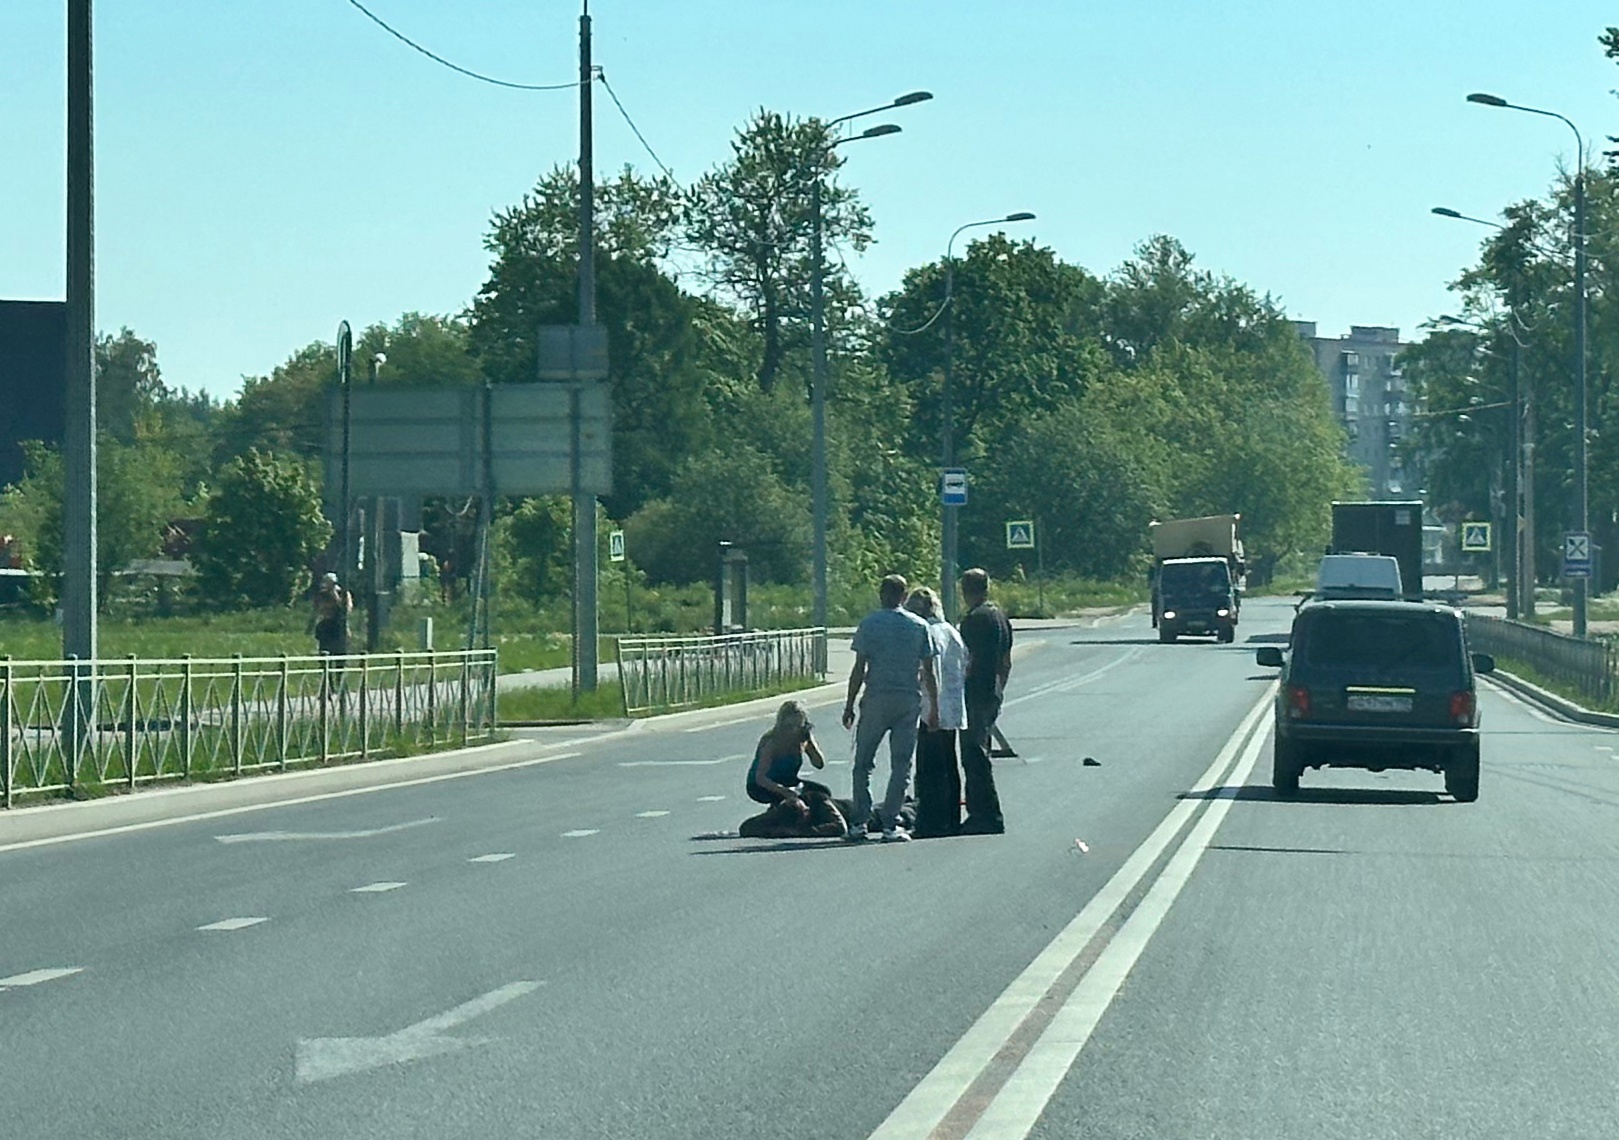
[[[23,478],[24,439],[62,444],[68,306],[0,301],[0,486]]]

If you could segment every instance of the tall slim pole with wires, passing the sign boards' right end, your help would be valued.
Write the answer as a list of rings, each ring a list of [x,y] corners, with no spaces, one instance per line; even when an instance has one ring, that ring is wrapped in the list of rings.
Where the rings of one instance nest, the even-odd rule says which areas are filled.
[[[596,160],[591,131],[591,5],[580,13],[580,325],[596,324]],[[596,691],[596,496],[583,487],[580,382],[573,381],[573,696]]]

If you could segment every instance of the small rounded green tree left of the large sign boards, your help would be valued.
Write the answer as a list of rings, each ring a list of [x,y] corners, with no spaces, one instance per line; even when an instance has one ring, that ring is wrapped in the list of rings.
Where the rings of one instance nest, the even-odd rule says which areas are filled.
[[[223,609],[285,606],[330,539],[308,466],[249,449],[209,494],[191,555],[199,591]]]

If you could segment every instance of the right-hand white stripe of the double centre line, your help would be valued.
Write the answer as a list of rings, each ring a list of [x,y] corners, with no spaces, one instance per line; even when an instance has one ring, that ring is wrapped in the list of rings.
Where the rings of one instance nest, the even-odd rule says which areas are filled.
[[[1051,1103],[1057,1087],[1078,1061],[1080,1051],[1091,1040],[1103,1014],[1124,988],[1125,978],[1130,976],[1130,970],[1135,968],[1146,944],[1153,941],[1153,934],[1158,933],[1169,908],[1175,905],[1175,899],[1180,897],[1180,891],[1192,878],[1203,852],[1214,840],[1214,832],[1219,831],[1226,813],[1230,811],[1237,790],[1247,784],[1266,738],[1268,734],[1263,729],[1253,734],[1253,740],[1248,742],[1242,759],[1226,779],[1217,798],[1193,824],[1192,834],[1169,858],[1162,874],[1153,883],[1141,904],[1130,912],[1124,926],[1109,939],[1094,965],[1085,972],[1080,985],[1041,1032],[1039,1040],[1030,1046],[1017,1069],[1007,1077],[1005,1085],[984,1108],[983,1116],[967,1134],[967,1140],[1025,1140],[1033,1132],[1046,1104]]]

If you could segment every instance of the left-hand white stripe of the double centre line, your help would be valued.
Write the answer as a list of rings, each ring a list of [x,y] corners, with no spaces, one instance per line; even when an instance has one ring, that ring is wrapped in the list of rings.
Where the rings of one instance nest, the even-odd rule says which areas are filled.
[[[1124,866],[1114,871],[1106,886],[1096,892],[1085,908],[1075,915],[1073,921],[1051,939],[1033,962],[1012,980],[1012,985],[968,1027],[967,1033],[950,1046],[939,1064],[923,1077],[916,1087],[900,1101],[889,1119],[871,1134],[871,1140],[908,1140],[910,1137],[931,1135],[944,1117],[962,1100],[968,1087],[988,1069],[1017,1028],[1028,1019],[1039,1001],[1046,996],[1062,973],[1073,965],[1075,959],[1085,952],[1096,933],[1107,923],[1112,913],[1124,904],[1132,891],[1146,878],[1146,873],[1158,861],[1164,849],[1185,826],[1187,819],[1198,810],[1201,793],[1211,790],[1219,782],[1221,774],[1230,766],[1242,748],[1243,740],[1253,732],[1271,709],[1276,683],[1271,682],[1260,693],[1248,714],[1243,716],[1237,730],[1219,750],[1198,781],[1188,789],[1188,795],[1177,800],[1164,816],[1162,823],[1153,829],[1141,845],[1130,853]]]

